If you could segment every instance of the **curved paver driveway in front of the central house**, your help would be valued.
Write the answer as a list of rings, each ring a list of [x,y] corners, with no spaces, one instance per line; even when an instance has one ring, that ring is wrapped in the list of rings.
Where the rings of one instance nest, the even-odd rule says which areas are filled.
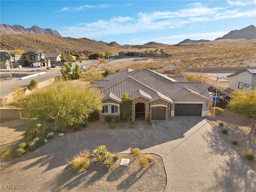
[[[172,117],[168,122],[153,122],[153,128],[143,125],[137,122],[136,130],[85,130],[52,140],[1,174],[1,188],[25,184],[23,191],[54,191],[67,159],[82,149],[106,145],[111,152],[129,153],[138,147],[160,155],[167,176],[166,192],[256,189],[256,173],[204,118]]]

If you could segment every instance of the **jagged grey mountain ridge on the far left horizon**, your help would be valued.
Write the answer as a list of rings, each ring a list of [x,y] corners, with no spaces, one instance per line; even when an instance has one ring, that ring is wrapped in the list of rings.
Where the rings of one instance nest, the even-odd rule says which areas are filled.
[[[58,31],[52,29],[42,29],[36,25],[31,28],[24,28],[20,25],[0,24],[1,34],[47,34],[52,36],[61,36]]]

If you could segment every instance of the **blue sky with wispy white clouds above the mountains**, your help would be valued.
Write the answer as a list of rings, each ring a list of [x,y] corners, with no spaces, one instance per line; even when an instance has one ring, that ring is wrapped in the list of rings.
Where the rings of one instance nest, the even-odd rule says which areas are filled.
[[[0,23],[119,44],[177,44],[256,24],[256,0],[0,1]]]

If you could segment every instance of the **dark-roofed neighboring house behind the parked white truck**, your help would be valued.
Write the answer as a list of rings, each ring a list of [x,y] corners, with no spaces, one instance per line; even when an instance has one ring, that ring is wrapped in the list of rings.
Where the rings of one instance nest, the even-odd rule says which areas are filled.
[[[48,58],[45,58],[45,54],[42,54],[37,51],[28,51],[24,54],[22,54],[22,64],[24,66],[30,66],[30,64],[35,62],[42,63],[42,66],[48,67],[51,66],[51,60]]]

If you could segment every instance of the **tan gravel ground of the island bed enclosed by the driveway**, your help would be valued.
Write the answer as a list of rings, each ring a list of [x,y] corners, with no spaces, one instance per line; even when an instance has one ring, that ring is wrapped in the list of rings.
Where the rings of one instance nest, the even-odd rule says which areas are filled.
[[[146,168],[140,168],[139,158],[134,159],[130,154],[120,154],[119,160],[110,172],[96,162],[95,158],[91,160],[88,170],[79,175],[67,166],[59,176],[56,191],[164,191],[166,174],[162,158],[155,154],[151,155],[155,160]],[[122,158],[130,159],[129,166],[120,166]]]

